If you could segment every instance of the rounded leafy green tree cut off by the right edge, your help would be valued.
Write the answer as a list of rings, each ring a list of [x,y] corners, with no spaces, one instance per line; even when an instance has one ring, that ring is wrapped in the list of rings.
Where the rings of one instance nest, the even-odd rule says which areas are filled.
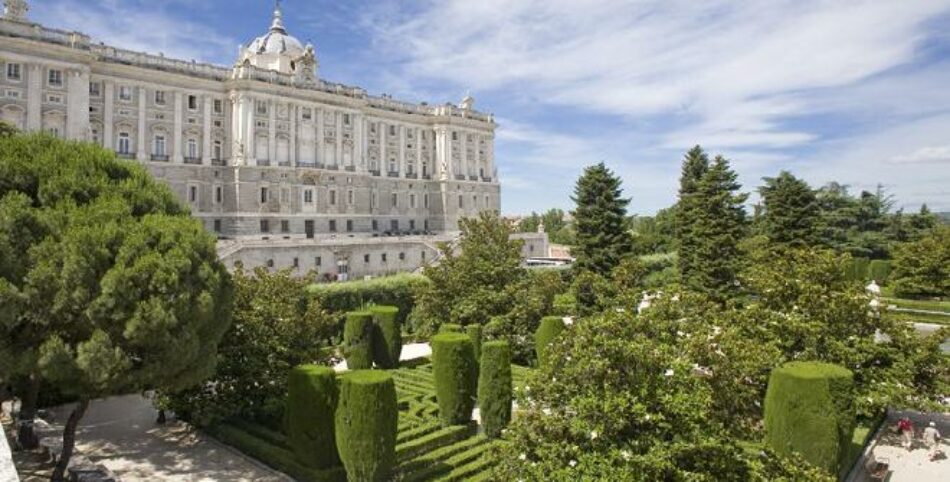
[[[891,283],[899,296],[950,296],[950,227],[900,245],[893,268]]]

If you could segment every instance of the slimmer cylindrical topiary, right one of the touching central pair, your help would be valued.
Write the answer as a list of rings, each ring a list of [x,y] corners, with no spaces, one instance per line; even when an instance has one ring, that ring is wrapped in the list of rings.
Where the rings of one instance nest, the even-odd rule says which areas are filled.
[[[511,348],[507,341],[482,345],[478,410],[485,436],[496,438],[511,421]]]

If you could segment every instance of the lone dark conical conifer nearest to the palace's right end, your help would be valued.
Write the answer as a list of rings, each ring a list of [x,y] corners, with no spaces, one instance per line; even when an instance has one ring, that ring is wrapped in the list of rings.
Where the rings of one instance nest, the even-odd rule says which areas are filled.
[[[606,276],[631,252],[627,204],[621,197],[620,178],[603,163],[584,169],[577,180],[574,223],[577,240],[575,266]]]

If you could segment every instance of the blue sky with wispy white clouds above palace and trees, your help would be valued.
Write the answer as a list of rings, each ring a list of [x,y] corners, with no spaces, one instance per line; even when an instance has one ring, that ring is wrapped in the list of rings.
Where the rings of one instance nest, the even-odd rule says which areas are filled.
[[[273,1],[31,0],[116,46],[231,65]],[[950,211],[950,0],[284,0],[320,76],[498,122],[502,211],[571,209],[585,166],[630,211],[676,201],[683,154],[745,191],[788,170]],[[754,198],[753,198],[754,199]]]

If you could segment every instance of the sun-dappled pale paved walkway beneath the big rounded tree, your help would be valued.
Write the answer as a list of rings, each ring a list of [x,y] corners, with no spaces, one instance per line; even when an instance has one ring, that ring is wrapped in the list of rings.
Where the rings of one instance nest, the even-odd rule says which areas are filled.
[[[54,410],[62,430],[70,406]],[[289,481],[187,424],[155,424],[156,411],[139,395],[96,400],[79,425],[76,447],[123,482]]]

